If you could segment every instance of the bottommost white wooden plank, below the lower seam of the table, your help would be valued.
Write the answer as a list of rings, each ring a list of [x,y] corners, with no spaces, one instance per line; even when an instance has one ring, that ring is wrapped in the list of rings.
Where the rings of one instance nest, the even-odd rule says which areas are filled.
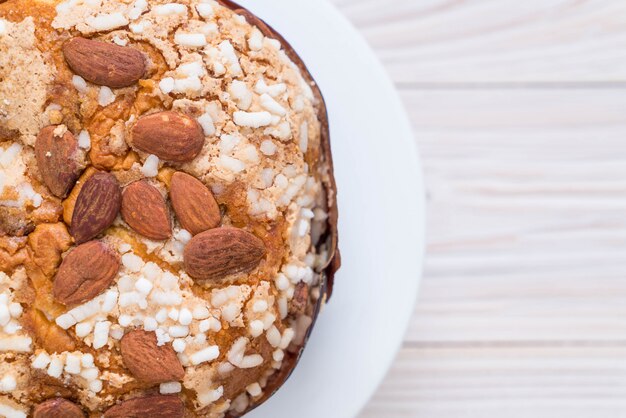
[[[618,418],[624,347],[406,348],[361,418]]]

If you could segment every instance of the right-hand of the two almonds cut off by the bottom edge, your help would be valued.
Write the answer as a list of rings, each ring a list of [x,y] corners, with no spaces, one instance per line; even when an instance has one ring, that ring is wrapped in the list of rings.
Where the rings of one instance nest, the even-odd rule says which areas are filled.
[[[115,405],[104,418],[182,418],[185,406],[176,395],[148,395]]]

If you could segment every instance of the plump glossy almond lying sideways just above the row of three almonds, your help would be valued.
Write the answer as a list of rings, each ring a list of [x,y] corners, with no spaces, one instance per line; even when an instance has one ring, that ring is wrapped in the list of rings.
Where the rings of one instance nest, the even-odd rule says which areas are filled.
[[[159,112],[139,118],[131,131],[132,145],[162,160],[184,163],[202,151],[204,131],[193,118],[177,112]]]

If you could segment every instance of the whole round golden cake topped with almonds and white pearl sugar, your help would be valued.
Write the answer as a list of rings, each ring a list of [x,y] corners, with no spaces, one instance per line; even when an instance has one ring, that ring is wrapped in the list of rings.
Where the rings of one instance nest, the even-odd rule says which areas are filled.
[[[0,416],[244,414],[336,222],[319,89],[246,10],[0,0]]]

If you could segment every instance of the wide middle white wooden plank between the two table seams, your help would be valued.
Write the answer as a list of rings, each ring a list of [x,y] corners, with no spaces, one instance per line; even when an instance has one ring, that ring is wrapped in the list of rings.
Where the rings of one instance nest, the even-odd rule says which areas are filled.
[[[409,341],[626,342],[625,93],[403,93],[429,194]]]

